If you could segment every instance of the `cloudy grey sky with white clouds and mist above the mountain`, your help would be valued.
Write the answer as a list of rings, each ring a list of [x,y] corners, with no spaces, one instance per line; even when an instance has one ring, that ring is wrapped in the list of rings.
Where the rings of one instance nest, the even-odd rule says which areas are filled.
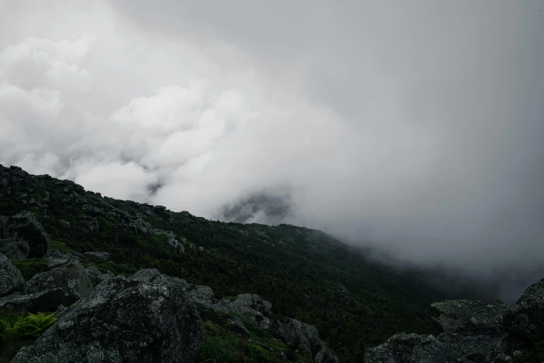
[[[515,300],[544,277],[543,9],[0,0],[0,163]]]

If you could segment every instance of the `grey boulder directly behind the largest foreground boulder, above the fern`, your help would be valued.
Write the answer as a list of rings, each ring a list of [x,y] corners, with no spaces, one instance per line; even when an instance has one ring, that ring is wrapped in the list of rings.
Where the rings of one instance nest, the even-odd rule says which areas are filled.
[[[88,296],[92,291],[92,283],[85,268],[78,261],[38,273],[26,282],[26,292],[37,293],[44,290],[63,289],[63,305],[70,306],[77,300]]]

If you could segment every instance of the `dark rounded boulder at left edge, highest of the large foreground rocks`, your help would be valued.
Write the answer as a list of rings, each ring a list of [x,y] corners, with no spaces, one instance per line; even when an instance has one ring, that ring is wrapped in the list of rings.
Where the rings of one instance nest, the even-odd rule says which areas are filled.
[[[28,258],[42,257],[49,248],[49,235],[31,211],[11,216],[3,225],[4,239],[22,239],[28,243]]]

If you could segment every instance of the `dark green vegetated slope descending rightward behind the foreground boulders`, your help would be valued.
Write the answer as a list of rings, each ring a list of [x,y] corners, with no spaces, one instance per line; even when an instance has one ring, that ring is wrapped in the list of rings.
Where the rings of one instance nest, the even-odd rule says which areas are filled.
[[[340,362],[361,361],[365,348],[399,332],[436,333],[429,305],[450,298],[315,229],[206,220],[0,166],[0,216],[26,210],[50,248],[81,256],[83,266],[124,276],[156,268],[211,287],[217,299],[257,294],[272,318],[314,325]],[[82,255],[93,251],[107,261]],[[25,278],[43,268],[39,260],[17,266]]]

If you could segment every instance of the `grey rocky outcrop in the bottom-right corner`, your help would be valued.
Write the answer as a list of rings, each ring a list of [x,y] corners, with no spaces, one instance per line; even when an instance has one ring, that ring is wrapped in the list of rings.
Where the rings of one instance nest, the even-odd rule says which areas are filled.
[[[530,362],[527,352],[543,339],[544,279],[513,305],[446,300],[431,305],[440,334],[396,334],[365,350],[366,363]]]

